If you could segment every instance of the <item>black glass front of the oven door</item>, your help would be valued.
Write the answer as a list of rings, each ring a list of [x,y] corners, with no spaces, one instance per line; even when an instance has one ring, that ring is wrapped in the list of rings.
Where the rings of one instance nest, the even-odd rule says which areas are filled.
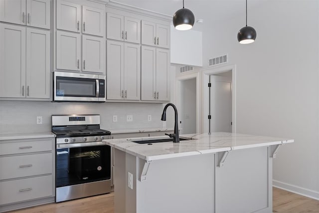
[[[56,188],[111,179],[111,147],[56,149]]]

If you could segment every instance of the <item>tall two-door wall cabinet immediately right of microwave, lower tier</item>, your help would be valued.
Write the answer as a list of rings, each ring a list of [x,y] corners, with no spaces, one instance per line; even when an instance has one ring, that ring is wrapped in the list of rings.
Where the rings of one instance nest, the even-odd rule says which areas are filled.
[[[140,100],[140,45],[107,41],[107,99]]]

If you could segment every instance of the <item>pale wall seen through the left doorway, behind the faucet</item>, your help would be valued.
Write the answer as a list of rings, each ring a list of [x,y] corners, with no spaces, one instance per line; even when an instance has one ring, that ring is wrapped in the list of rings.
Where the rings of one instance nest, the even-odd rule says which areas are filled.
[[[196,78],[180,81],[181,134],[196,133]]]

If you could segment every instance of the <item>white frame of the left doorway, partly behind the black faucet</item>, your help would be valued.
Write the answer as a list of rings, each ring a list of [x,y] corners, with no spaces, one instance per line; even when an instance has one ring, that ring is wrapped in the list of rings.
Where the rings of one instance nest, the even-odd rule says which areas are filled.
[[[200,73],[196,72],[196,73],[190,73],[190,74],[185,74],[185,75],[181,75],[176,77],[176,107],[177,110],[180,112],[180,108],[181,108],[181,101],[180,101],[180,91],[181,91],[181,81],[183,80],[188,80],[188,79],[192,79],[195,78],[196,79],[196,134],[198,133],[202,133],[201,131],[201,122],[200,122],[200,115],[201,115],[201,102],[200,102]]]

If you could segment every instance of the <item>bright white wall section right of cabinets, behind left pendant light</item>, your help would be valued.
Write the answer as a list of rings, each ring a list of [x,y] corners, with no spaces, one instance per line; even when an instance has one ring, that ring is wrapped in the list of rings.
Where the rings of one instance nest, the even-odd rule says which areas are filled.
[[[202,32],[170,26],[170,62],[202,66]]]

